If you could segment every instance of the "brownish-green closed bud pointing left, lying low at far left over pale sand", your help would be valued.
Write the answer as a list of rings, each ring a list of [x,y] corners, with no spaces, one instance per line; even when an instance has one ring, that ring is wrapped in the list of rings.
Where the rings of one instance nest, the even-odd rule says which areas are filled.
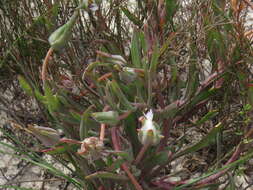
[[[47,147],[56,145],[60,140],[60,133],[49,127],[28,125],[28,130]]]

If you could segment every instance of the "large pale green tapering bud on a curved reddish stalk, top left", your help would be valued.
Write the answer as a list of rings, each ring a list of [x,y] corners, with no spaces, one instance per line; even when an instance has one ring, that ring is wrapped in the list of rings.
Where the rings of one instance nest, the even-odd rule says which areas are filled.
[[[78,15],[79,15],[78,11],[75,11],[66,24],[55,30],[50,35],[48,41],[54,50],[59,50],[68,43],[71,37],[72,28],[78,18]]]

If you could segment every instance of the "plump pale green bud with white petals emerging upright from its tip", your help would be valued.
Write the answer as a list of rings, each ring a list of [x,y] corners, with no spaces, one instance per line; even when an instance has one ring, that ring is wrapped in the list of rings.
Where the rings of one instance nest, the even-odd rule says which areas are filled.
[[[143,145],[157,145],[163,138],[158,124],[153,121],[152,110],[144,115],[142,127],[138,130],[138,138]]]

